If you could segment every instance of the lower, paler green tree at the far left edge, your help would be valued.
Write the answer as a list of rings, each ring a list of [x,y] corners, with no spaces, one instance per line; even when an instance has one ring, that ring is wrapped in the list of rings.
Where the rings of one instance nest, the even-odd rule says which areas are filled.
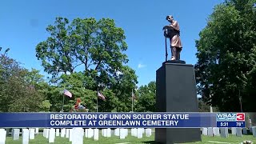
[[[19,66],[14,59],[5,54],[0,56],[0,111],[22,112],[39,111],[44,100],[29,83],[25,81],[28,70]]]

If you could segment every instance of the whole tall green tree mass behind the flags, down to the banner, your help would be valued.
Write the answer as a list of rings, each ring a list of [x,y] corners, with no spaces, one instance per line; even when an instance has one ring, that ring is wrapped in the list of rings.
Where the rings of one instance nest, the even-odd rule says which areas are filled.
[[[126,102],[138,83],[137,75],[125,66],[128,62],[123,53],[127,50],[126,37],[113,19],[76,18],[69,22],[67,18],[56,18],[54,26],[50,25],[46,30],[50,37],[38,43],[36,56],[58,86],[48,94],[53,102],[52,110],[59,109],[62,97],[58,91],[64,88],[69,88],[74,98],[91,90],[86,100],[94,102],[90,103],[89,109],[95,110],[92,106],[97,97],[91,92],[98,90],[98,84],[103,84],[107,94],[107,100],[100,103],[99,110],[111,111],[114,107],[117,111],[129,110],[130,105]],[[68,100],[74,102],[72,98]],[[65,106],[68,109],[72,105],[65,103]]]

